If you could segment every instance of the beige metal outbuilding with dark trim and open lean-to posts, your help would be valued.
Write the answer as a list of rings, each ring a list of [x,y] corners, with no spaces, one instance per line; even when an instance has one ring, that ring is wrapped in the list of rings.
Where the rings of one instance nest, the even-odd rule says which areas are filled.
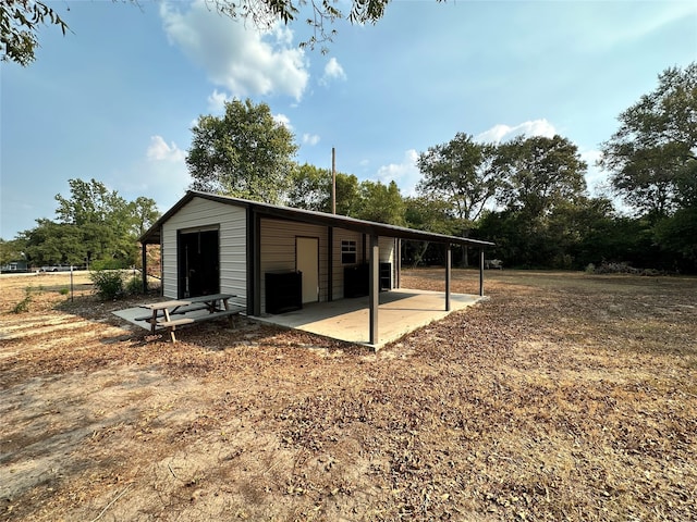
[[[163,297],[233,294],[246,303],[247,315],[261,316],[367,295],[369,344],[377,345],[378,296],[400,288],[404,239],[445,249],[447,311],[451,248],[479,249],[479,295],[484,295],[484,249],[492,243],[195,190],[139,240],[144,269],[145,246],[160,245]]]

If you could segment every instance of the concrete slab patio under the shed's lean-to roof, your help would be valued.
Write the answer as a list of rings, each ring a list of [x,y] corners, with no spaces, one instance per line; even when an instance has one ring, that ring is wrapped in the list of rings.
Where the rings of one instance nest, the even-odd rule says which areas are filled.
[[[250,318],[289,328],[381,348],[405,334],[450,313],[475,304],[482,298],[466,294],[451,294],[451,310],[445,311],[442,291],[393,289],[380,294],[378,308],[378,341],[370,345],[368,298],[340,299],[331,302],[304,304],[302,310],[279,315]]]

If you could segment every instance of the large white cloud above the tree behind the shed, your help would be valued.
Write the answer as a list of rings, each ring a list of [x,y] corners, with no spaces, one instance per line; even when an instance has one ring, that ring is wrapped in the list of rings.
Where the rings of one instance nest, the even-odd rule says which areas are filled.
[[[290,29],[279,25],[268,30],[247,28],[219,15],[204,0],[196,0],[184,12],[179,4],[164,2],[160,17],[170,42],[233,97],[282,94],[302,98],[309,73],[304,51],[292,45]]]

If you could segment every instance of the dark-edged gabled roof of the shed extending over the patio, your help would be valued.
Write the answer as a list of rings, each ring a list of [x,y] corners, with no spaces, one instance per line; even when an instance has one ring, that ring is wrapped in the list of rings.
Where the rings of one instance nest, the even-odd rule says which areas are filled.
[[[217,201],[219,203],[244,207],[247,209],[252,209],[262,217],[274,217],[280,220],[310,223],[314,225],[333,226],[337,228],[344,228],[347,231],[354,231],[364,234],[376,234],[378,236],[396,237],[400,239],[414,239],[417,241],[441,243],[450,245],[470,245],[478,247],[493,245],[493,243],[490,241],[481,241],[478,239],[469,239],[466,237],[448,236],[444,234],[435,234],[426,231],[417,231],[415,228],[406,228],[404,226],[394,226],[388,225],[386,223],[375,223],[371,221],[356,220],[354,217],[348,217],[345,215],[328,214],[326,212],[315,212],[311,210],[293,209],[291,207],[261,203],[259,201],[231,198],[228,196],[219,196],[217,194],[201,192],[198,190],[187,191],[186,195],[174,204],[174,207],[168,210],[145,234],[143,234],[143,236],[140,236],[139,241],[143,245],[159,244],[160,229],[162,227],[162,224],[194,198],[203,198],[210,201]]]

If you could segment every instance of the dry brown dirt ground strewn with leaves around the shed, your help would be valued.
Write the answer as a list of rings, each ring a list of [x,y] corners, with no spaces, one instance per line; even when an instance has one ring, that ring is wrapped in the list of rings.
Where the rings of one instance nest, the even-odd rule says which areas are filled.
[[[66,277],[0,277],[0,520],[697,520],[697,278],[487,271],[372,353]]]

